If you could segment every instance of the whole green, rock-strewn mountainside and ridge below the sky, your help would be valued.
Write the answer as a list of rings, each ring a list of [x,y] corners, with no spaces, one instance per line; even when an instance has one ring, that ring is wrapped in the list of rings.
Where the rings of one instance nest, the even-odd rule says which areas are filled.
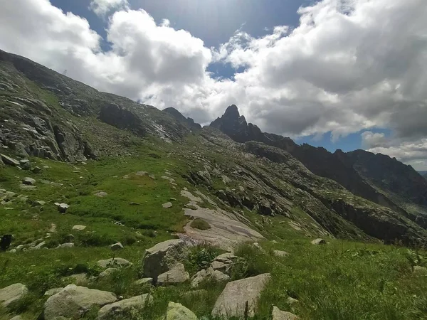
[[[0,51],[0,319],[213,319],[241,292],[256,319],[422,319],[427,254],[401,245],[427,247],[425,191],[396,159],[300,146],[235,105],[201,128]]]

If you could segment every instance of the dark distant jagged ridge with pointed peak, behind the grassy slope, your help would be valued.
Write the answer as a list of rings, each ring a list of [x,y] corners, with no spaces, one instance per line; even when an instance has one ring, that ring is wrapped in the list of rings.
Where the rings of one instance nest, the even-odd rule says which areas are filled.
[[[313,174],[337,181],[355,195],[386,206],[423,228],[427,226],[426,180],[411,166],[396,159],[362,150],[331,153],[309,144],[299,146],[290,138],[264,133],[248,124],[236,105],[228,107],[211,127],[220,129],[236,142],[263,142],[288,151]]]

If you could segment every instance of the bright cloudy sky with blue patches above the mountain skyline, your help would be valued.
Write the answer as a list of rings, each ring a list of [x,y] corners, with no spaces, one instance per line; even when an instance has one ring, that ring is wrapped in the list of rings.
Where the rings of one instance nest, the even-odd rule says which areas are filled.
[[[427,170],[426,0],[0,0],[0,48],[209,124]]]

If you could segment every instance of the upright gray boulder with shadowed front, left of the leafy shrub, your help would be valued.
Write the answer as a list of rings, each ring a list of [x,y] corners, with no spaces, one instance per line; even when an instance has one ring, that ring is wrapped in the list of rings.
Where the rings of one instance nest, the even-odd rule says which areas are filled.
[[[145,250],[142,272],[144,277],[157,280],[159,274],[169,271],[176,262],[186,257],[185,243],[179,239],[157,243]]]

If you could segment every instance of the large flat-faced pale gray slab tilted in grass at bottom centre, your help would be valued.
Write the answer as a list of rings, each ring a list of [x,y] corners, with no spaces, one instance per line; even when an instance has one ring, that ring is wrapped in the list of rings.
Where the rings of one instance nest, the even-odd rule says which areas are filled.
[[[255,307],[260,292],[270,279],[270,274],[259,274],[255,277],[228,282],[223,292],[216,300],[212,316],[233,317],[240,319],[248,306],[248,316],[255,315]]]

